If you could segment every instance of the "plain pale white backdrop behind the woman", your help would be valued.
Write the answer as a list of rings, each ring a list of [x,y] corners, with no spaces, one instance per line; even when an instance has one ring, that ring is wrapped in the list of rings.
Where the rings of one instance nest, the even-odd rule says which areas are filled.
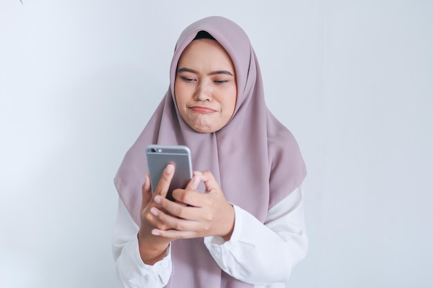
[[[120,287],[113,176],[210,15],[308,166],[291,287],[433,287],[433,1],[23,1],[0,3],[0,287]]]

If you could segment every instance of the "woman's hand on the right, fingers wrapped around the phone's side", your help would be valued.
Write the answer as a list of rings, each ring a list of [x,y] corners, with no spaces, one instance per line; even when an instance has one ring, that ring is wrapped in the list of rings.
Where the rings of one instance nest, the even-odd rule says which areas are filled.
[[[156,196],[155,201],[165,211],[156,211],[156,217],[171,229],[153,229],[156,236],[167,238],[199,238],[221,236],[230,240],[234,227],[234,209],[225,200],[223,191],[209,171],[194,172],[189,185],[195,189],[176,189],[173,198],[176,202]],[[204,182],[206,191],[200,193],[197,186]]]

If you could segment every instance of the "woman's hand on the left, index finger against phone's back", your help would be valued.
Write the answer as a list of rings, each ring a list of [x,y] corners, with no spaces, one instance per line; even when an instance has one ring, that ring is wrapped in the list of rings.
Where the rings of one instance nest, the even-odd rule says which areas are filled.
[[[174,166],[168,164],[156,186],[154,195],[151,193],[149,174],[146,175],[145,183],[142,185],[141,225],[138,231],[138,246],[140,257],[147,265],[154,265],[159,260],[162,260],[165,257],[169,243],[174,240],[172,238],[154,236],[151,233],[152,229],[155,228],[162,230],[169,229],[169,227],[166,227],[166,224],[155,217],[152,211],[156,208],[163,209],[154,201],[154,198],[156,195],[165,198],[173,175]]]

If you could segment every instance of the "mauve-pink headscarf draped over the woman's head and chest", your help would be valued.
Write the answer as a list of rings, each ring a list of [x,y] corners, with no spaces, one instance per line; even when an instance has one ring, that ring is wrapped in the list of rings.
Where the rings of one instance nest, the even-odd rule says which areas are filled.
[[[214,133],[192,130],[181,117],[174,97],[178,60],[200,31],[208,32],[228,52],[237,78],[234,114]],[[190,147],[194,171],[209,170],[228,202],[261,222],[268,210],[300,186],[306,176],[295,138],[266,107],[259,63],[248,36],[223,17],[207,17],[183,30],[174,50],[169,89],[115,177],[120,199],[139,226],[148,144]],[[203,238],[174,240],[172,262],[174,273],[167,287],[253,287],[222,271]]]

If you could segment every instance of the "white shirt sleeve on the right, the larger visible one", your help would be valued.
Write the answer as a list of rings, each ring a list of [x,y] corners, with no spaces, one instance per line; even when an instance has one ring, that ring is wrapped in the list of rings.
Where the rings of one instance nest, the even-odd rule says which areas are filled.
[[[219,267],[255,287],[286,287],[292,268],[308,249],[303,185],[268,211],[263,224],[240,207],[234,207],[234,229],[229,241],[205,238]],[[266,271],[266,272],[265,272]]]

